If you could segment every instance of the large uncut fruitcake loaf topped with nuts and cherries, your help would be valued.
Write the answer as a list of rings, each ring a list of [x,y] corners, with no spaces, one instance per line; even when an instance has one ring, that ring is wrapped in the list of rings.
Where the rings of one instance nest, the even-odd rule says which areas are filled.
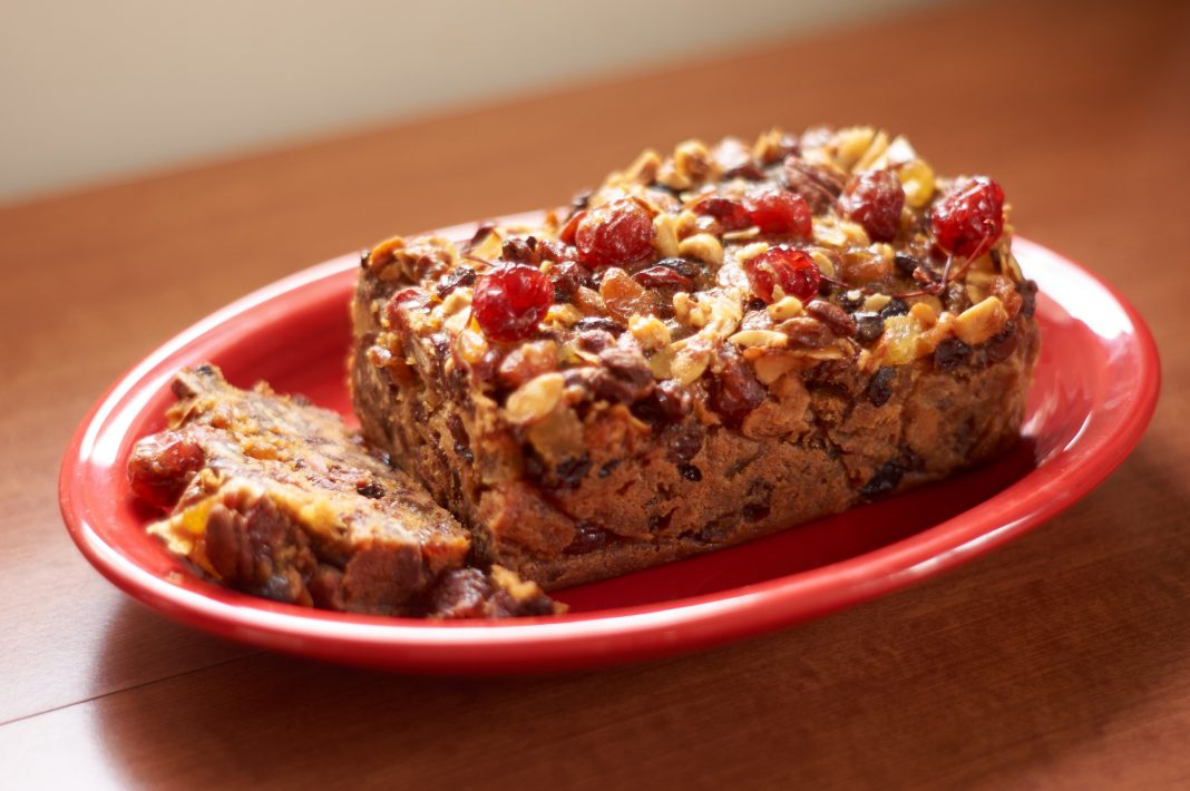
[[[367,251],[355,409],[546,589],[841,511],[1016,440],[1006,212],[872,128],[645,151],[539,224]]]

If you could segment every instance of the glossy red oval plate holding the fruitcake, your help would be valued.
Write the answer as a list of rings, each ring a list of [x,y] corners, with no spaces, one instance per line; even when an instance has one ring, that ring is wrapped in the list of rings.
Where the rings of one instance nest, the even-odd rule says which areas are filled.
[[[470,236],[470,228],[443,232]],[[60,496],[71,538],[108,579],[170,617],[319,659],[430,673],[577,670],[703,648],[904,588],[1020,535],[1090,491],[1139,441],[1157,402],[1157,349],[1115,290],[1023,239],[1042,347],[1023,439],[1000,462],[885,502],[713,554],[560,591],[570,614],[426,622],[309,610],[209,584],[144,532],[131,444],[157,431],[182,366],[220,365],[344,414],[357,259],[287,277],[200,321],[117,382],[75,433]]]

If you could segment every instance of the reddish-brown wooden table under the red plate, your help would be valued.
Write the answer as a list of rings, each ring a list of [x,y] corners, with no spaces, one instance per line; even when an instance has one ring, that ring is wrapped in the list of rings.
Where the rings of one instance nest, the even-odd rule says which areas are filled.
[[[1188,21],[1146,1],[927,11],[0,211],[0,786],[1188,787]],[[74,426],[231,299],[392,231],[551,203],[643,144],[819,121],[995,174],[1023,234],[1148,316],[1152,429],[1028,536],[746,644],[512,680],[221,642],[70,544]]]

